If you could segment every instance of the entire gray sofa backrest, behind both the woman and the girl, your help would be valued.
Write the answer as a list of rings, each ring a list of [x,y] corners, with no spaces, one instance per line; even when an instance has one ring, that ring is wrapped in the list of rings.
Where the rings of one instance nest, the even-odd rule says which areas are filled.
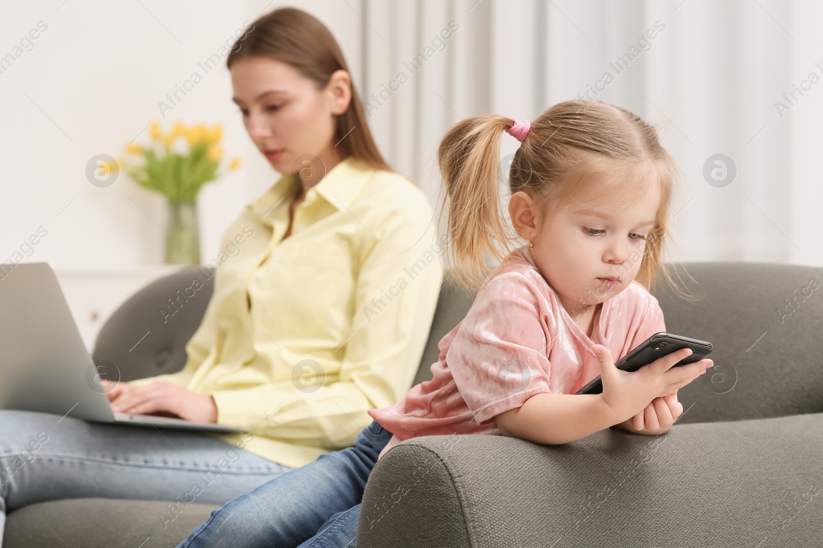
[[[664,289],[658,297],[667,331],[714,344],[714,369],[678,393],[678,422],[780,417],[823,411],[823,366],[816,341],[823,331],[823,269],[770,263],[706,262],[674,265],[696,283],[702,297],[689,303]],[[178,290],[198,278],[205,287],[179,299]],[[430,380],[437,344],[463,320],[474,293],[458,288],[447,272],[414,383]],[[212,294],[212,279],[184,268],[157,280],[114,312],[97,338],[95,363],[114,363],[121,380],[179,371],[185,344],[198,328]],[[134,342],[150,332],[133,348]],[[133,348],[132,351],[129,349]]]

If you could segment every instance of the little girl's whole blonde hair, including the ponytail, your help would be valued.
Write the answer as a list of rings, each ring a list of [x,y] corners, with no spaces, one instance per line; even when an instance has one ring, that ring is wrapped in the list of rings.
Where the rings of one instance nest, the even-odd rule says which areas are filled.
[[[469,117],[454,125],[440,141],[437,158],[448,206],[447,241],[456,279],[477,289],[490,271],[486,257],[500,262],[517,239],[504,219],[500,187],[500,134],[513,125],[495,114]],[[660,145],[655,129],[634,113],[602,101],[574,99],[558,103],[534,122],[509,169],[509,191],[525,191],[546,206],[546,217],[574,203],[593,176],[617,177],[597,189],[615,208],[636,203],[649,184],[658,183],[661,202],[654,227],[646,236],[644,256],[635,279],[652,291],[662,275],[681,297],[694,297],[663,264],[663,250],[672,238],[672,199],[680,168]],[[691,278],[690,278],[691,279]],[[694,279],[692,279],[694,281]]]

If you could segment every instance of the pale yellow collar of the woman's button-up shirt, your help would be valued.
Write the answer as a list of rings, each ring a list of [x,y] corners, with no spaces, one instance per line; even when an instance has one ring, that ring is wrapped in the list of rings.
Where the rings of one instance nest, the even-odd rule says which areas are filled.
[[[329,170],[315,187],[309,189],[309,193],[315,191],[337,210],[348,209],[365,187],[372,171],[365,163],[348,156]],[[288,197],[294,195],[297,184],[295,173],[286,173],[249,207],[263,217],[271,210],[288,203]]]

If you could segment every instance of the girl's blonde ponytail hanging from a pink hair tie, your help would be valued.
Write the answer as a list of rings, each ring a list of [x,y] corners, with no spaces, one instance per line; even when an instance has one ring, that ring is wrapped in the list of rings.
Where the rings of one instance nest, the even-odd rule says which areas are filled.
[[[512,119],[481,114],[458,122],[440,141],[437,160],[449,200],[446,238],[455,278],[477,288],[489,271],[487,259],[499,262],[509,253],[500,249],[513,236],[500,207],[500,135]]]

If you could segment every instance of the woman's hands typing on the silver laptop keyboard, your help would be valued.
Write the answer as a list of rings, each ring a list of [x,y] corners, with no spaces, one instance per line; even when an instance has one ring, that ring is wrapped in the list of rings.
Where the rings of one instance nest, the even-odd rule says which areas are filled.
[[[112,411],[141,415],[171,415],[188,421],[216,422],[217,406],[212,396],[195,394],[168,380],[158,380],[151,385],[134,386],[128,383],[111,383],[100,380],[109,396]]]

